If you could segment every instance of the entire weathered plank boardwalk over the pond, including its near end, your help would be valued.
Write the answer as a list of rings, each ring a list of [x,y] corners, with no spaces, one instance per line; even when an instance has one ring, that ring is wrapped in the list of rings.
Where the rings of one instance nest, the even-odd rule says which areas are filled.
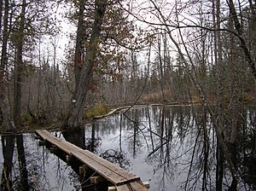
[[[148,189],[140,180],[140,177],[119,168],[117,165],[102,159],[95,153],[84,150],[73,145],[70,142],[62,140],[53,136],[48,130],[36,130],[38,136],[41,136],[45,142],[49,142],[54,147],[61,149],[76,159],[79,159],[84,165],[90,167],[91,170],[96,171],[101,177],[108,182],[113,183],[113,187],[109,187],[109,191],[147,191]]]

